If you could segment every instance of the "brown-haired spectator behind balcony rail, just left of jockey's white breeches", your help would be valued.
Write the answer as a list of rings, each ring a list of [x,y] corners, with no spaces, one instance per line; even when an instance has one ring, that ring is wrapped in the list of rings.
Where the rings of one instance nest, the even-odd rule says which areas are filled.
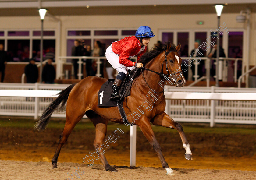
[[[92,51],[92,56],[94,57],[99,57],[99,56],[104,56],[104,52],[103,52],[103,48],[101,46],[101,42],[100,41],[94,41],[94,49]],[[97,63],[96,63],[97,59],[94,60],[93,62],[93,69],[94,72],[97,72]],[[100,73],[101,73],[101,77],[103,77],[103,60],[101,59],[101,64],[100,64]]]

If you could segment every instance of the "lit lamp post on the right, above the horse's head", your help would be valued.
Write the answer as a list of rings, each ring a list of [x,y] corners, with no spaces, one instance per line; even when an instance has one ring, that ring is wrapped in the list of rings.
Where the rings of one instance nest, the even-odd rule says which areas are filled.
[[[219,25],[220,25],[220,15],[223,9],[223,4],[216,4],[215,5],[215,10],[218,16],[218,31],[217,31],[217,53],[216,53],[216,69],[215,69],[215,74],[216,74],[216,79],[215,79],[215,86],[219,87]]]

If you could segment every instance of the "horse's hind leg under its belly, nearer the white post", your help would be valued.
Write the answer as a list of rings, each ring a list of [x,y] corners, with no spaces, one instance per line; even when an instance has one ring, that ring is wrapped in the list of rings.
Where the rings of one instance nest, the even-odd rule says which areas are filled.
[[[117,172],[117,170],[115,168],[112,168],[108,164],[108,161],[104,155],[105,150],[103,150],[103,148],[102,148],[102,143],[103,143],[103,140],[105,139],[106,133],[107,133],[108,120],[102,118],[101,116],[94,113],[93,111],[87,111],[85,114],[91,120],[91,122],[93,122],[93,124],[95,126],[95,139],[94,139],[93,145],[94,145],[95,151],[97,153],[96,156],[100,157],[101,162],[106,171]],[[104,142],[103,144],[106,144],[106,143],[108,143],[108,142]],[[106,146],[107,146],[107,144],[106,144]],[[98,148],[98,147],[100,147],[100,148]],[[98,150],[97,150],[97,148],[98,148]],[[98,158],[98,157],[96,157],[96,158]]]

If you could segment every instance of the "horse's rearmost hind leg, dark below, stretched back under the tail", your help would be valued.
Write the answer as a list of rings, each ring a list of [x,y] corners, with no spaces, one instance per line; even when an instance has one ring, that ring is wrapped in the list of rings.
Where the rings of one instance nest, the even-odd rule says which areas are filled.
[[[80,115],[78,115],[78,114],[79,113],[77,111],[76,112],[72,111],[72,114],[69,111],[66,112],[66,118],[67,119],[66,119],[64,129],[63,129],[62,133],[59,136],[59,142],[58,142],[57,149],[56,149],[55,154],[52,158],[52,168],[57,168],[57,161],[58,161],[58,157],[59,157],[61,147],[66,143],[70,133],[72,132],[72,130],[74,129],[76,124],[84,116],[84,112],[82,112],[82,111],[80,112]]]

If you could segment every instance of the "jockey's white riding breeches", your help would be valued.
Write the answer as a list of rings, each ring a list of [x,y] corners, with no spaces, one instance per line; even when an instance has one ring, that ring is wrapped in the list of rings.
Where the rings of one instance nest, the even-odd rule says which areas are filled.
[[[111,48],[111,45],[108,46],[105,54],[108,62],[112,65],[114,69],[116,69],[119,72],[127,73],[128,69],[133,70],[135,67],[125,67],[124,65],[119,63],[119,55],[116,55]]]

